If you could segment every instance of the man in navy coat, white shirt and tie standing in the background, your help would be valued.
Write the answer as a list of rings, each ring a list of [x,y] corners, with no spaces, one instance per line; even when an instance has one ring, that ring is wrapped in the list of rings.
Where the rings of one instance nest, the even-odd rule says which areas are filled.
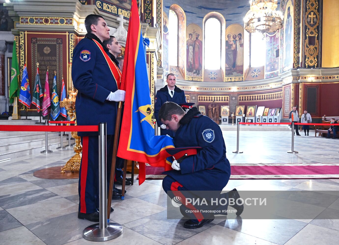
[[[166,126],[162,124],[158,117],[160,107],[166,101],[171,101],[177,104],[186,103],[185,92],[179,89],[176,85],[176,77],[173,73],[169,73],[166,78],[167,85],[158,90],[155,95],[154,116],[157,120],[158,127],[160,127],[160,135],[168,134],[172,138],[175,136],[175,132],[166,129]]]

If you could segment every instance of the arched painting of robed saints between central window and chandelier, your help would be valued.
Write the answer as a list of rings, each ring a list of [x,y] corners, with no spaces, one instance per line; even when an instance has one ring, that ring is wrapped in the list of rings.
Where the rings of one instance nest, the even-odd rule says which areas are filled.
[[[226,28],[226,63],[225,81],[231,77],[243,77],[244,62],[244,29],[239,24]]]

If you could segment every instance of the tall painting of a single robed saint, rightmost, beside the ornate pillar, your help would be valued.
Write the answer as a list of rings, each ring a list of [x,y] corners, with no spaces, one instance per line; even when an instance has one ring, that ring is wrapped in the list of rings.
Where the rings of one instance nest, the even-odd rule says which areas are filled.
[[[291,0],[288,0],[285,5],[285,11],[284,11],[284,52],[283,52],[283,60],[284,63],[283,71],[287,71],[289,69],[292,69],[293,64],[293,36],[294,36],[294,9],[293,9],[293,3]]]

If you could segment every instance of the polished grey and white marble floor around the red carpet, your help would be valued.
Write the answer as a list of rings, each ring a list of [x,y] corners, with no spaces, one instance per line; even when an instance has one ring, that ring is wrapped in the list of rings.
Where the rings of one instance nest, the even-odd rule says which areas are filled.
[[[291,132],[240,131],[235,154],[236,131],[224,131],[227,158],[239,163],[338,163],[339,140]],[[63,165],[71,150],[33,154],[0,162],[0,244],[90,244],[82,231],[93,222],[77,218],[78,179],[40,179],[33,172]],[[135,176],[136,177],[136,176]],[[162,180],[146,180],[127,186],[125,200],[113,201],[113,222],[123,225],[123,234],[102,244],[338,244],[339,219],[215,219],[199,229],[185,229],[184,220],[167,219]],[[338,179],[230,180],[225,190],[339,191]],[[321,215],[338,217],[339,195],[313,203]],[[320,208],[321,207],[321,208]]]

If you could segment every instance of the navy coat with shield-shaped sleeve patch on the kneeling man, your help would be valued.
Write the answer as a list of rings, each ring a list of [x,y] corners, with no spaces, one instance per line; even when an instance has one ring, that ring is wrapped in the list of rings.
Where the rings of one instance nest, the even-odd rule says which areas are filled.
[[[174,145],[202,149],[196,155],[184,158],[180,163],[181,170],[170,170],[165,174],[190,191],[221,191],[226,186],[231,166],[226,158],[221,129],[212,119],[199,114],[181,125]]]

